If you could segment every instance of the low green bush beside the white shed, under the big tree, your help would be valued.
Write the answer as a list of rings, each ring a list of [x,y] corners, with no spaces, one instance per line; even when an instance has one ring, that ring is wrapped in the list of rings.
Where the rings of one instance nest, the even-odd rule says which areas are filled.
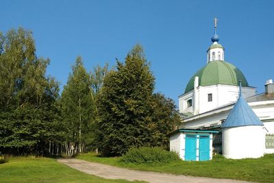
[[[121,161],[126,163],[167,163],[179,160],[175,152],[166,151],[161,147],[134,147],[122,156]]]

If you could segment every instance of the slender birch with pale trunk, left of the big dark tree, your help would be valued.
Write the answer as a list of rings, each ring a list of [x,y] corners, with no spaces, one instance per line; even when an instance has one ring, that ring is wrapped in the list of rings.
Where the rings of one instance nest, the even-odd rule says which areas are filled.
[[[90,91],[90,77],[81,57],[76,59],[72,70],[61,95],[62,117],[69,130],[69,143],[82,152],[90,138],[86,134],[95,120],[95,101]]]

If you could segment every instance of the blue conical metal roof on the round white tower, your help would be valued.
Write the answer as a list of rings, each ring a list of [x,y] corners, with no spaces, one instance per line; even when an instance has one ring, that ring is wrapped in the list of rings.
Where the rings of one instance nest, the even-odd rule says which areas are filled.
[[[249,126],[249,125],[264,125],[262,121],[253,112],[247,101],[242,98],[241,92],[238,101],[235,103],[234,108],[229,113],[224,127],[238,127],[238,126]]]

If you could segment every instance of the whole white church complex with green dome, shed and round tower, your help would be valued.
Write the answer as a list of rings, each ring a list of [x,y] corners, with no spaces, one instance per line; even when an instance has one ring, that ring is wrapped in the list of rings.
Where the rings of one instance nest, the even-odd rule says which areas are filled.
[[[274,153],[273,80],[256,94],[240,69],[225,60],[216,19],[211,40],[206,65],[179,95],[182,125],[170,134],[171,151],[183,160],[210,160],[213,151],[234,159]]]

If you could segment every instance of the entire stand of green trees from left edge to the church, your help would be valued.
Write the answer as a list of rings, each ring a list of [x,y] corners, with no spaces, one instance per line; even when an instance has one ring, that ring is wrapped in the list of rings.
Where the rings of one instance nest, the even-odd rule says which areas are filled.
[[[0,151],[9,154],[73,153],[99,147],[104,155],[130,147],[167,146],[179,121],[175,104],[153,94],[155,78],[140,45],[116,70],[88,73],[78,57],[59,97],[38,58],[32,32],[0,32]]]

